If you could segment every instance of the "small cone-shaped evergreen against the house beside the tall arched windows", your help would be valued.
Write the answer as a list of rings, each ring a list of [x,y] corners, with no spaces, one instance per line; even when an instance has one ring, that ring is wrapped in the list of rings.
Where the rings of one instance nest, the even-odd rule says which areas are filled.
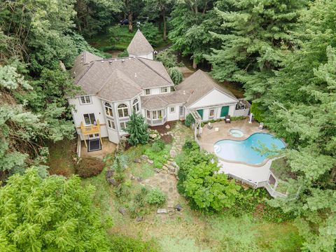
[[[145,118],[135,111],[130,116],[130,120],[127,122],[126,132],[130,134],[128,142],[132,146],[138,144],[146,144],[149,139],[147,132],[148,125],[145,123]]]

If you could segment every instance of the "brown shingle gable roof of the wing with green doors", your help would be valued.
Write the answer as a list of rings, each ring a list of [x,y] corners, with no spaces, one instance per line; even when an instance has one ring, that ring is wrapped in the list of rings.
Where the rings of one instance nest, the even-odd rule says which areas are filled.
[[[176,86],[176,90],[189,90],[189,92],[191,92],[190,97],[186,102],[187,107],[193,105],[212,90],[219,90],[238,102],[238,99],[232,92],[216,83],[208,73],[205,73],[202,70],[197,70],[191,76],[186,78],[186,80],[183,80],[182,83]]]

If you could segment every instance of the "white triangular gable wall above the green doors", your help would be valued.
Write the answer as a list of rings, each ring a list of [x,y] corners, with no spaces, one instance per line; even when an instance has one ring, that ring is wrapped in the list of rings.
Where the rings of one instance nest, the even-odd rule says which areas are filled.
[[[204,97],[192,104],[190,106],[190,109],[197,109],[206,106],[216,106],[220,104],[232,104],[237,102],[237,99],[233,99],[223,92],[220,92],[218,90],[212,90],[211,92],[209,92],[209,94],[204,95]]]

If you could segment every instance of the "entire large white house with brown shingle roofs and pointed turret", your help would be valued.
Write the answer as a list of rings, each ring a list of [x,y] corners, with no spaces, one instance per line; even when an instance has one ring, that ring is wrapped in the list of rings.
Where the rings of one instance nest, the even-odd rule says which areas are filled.
[[[132,56],[102,59],[83,52],[76,58],[71,75],[82,91],[69,104],[80,139],[108,137],[118,144],[133,111],[151,126],[184,120],[188,113],[206,121],[244,112],[237,109],[241,102],[204,71],[174,86],[162,63],[153,60],[153,48],[141,31],[127,50]]]

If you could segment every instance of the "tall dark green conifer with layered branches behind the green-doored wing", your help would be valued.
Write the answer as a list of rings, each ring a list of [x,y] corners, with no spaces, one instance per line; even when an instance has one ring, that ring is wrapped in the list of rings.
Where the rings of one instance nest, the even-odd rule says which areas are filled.
[[[222,47],[206,58],[213,66],[214,78],[244,83],[246,98],[258,99],[267,91],[265,79],[280,68],[295,45],[293,31],[307,1],[229,2],[234,11],[217,10],[223,32],[211,32],[221,39]]]

